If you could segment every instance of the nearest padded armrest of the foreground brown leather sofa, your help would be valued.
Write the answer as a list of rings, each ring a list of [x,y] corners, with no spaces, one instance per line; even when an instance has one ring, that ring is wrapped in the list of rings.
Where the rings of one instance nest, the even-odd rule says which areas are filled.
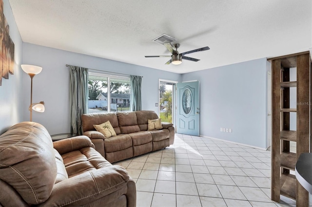
[[[88,171],[57,183],[49,199],[39,206],[84,206],[98,199],[103,199],[104,202],[105,196],[118,190],[131,190],[135,193],[136,189],[127,189],[129,181],[132,181],[131,177],[120,166],[112,165]]]

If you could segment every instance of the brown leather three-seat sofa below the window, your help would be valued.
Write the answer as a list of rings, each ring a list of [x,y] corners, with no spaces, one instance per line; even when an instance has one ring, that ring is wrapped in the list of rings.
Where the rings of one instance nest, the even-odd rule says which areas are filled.
[[[81,116],[83,135],[89,137],[96,150],[111,163],[143,155],[174,143],[175,128],[162,122],[163,129],[148,131],[148,120],[158,119],[154,111],[94,113]],[[110,121],[117,136],[105,138],[94,128]]]

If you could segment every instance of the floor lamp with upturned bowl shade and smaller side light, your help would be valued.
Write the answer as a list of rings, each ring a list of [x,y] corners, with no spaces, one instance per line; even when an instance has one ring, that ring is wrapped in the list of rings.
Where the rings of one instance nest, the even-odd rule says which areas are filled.
[[[31,86],[30,86],[30,121],[32,121],[33,110],[37,112],[44,112],[44,102],[34,103],[33,104],[33,78],[35,75],[39,74],[42,70],[39,66],[32,66],[32,65],[20,65],[21,69],[26,72],[31,79]]]

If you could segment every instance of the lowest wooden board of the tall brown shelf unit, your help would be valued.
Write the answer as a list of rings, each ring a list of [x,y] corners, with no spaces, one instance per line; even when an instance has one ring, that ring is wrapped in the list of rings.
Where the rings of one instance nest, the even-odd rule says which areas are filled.
[[[293,174],[282,174],[280,184],[281,195],[296,200],[296,176]]]

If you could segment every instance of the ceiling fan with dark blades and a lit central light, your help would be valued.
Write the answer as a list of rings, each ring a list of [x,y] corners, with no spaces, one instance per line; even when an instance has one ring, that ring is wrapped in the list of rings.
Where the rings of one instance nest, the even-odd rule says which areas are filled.
[[[198,48],[198,49],[195,49],[192,51],[179,53],[179,52],[177,52],[177,49],[180,47],[180,44],[174,44],[172,46],[171,43],[164,43],[164,46],[172,53],[172,55],[152,55],[152,56],[145,56],[145,57],[171,57],[171,59],[167,63],[165,63],[165,65],[169,65],[170,63],[172,63],[174,65],[179,65],[182,63],[182,59],[191,60],[191,61],[195,61],[195,62],[197,62],[199,60],[199,59],[196,59],[193,57],[184,56],[185,54],[189,54],[189,53],[193,53],[193,52],[206,51],[206,50],[210,49],[207,46],[207,47]]]

